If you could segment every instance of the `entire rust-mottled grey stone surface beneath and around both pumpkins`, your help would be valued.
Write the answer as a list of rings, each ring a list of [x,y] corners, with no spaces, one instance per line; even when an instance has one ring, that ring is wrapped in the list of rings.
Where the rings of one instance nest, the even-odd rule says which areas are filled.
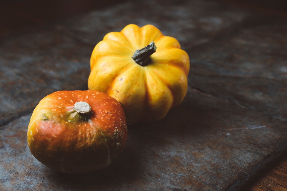
[[[51,171],[28,149],[30,112],[54,91],[86,89],[94,46],[130,23],[187,51],[184,102],[129,126],[107,169]],[[127,1],[1,37],[0,190],[238,190],[287,151],[286,32],[282,18],[215,1]]]

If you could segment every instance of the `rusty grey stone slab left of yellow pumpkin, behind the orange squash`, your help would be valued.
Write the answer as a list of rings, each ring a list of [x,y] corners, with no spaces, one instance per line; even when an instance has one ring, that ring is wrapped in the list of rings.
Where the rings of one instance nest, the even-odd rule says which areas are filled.
[[[3,38],[0,126],[33,111],[54,91],[87,89],[92,48],[51,27]]]

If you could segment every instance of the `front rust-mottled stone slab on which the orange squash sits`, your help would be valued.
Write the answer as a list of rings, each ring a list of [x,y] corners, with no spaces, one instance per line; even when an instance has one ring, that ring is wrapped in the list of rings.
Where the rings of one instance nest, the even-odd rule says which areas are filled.
[[[163,120],[129,126],[124,152],[107,169],[68,175],[31,155],[29,119],[0,130],[4,190],[225,190],[287,138],[286,123],[190,89]]]

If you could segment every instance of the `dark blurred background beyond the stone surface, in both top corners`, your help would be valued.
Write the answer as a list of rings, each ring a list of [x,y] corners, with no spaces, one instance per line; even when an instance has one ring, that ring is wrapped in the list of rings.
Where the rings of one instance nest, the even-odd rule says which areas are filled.
[[[101,9],[126,0],[0,0],[0,35],[23,27],[45,25],[76,13]],[[258,13],[287,18],[286,0],[213,0]]]

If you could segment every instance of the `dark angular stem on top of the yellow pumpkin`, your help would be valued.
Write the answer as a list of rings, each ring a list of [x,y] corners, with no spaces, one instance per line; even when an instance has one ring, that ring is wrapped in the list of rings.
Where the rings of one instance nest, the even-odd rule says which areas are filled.
[[[132,56],[132,59],[141,66],[148,65],[152,59],[149,57],[156,51],[155,42],[152,41],[146,47],[142,48],[141,50],[136,50],[135,54]]]

